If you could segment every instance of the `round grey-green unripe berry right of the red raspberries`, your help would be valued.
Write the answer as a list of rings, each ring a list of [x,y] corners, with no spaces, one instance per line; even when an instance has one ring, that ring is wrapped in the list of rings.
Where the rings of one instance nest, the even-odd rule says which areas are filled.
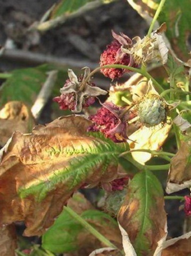
[[[148,93],[137,104],[140,122],[145,126],[155,126],[167,119],[167,104],[159,95]]]

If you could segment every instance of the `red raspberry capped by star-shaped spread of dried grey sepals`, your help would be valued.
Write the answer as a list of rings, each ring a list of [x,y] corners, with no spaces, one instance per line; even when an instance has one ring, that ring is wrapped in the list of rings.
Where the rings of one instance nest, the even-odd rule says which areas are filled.
[[[70,109],[73,112],[80,112],[82,107],[88,107],[95,102],[95,96],[107,94],[106,91],[96,87],[90,79],[90,69],[85,67],[84,75],[77,77],[71,69],[68,70],[69,79],[60,89],[61,95],[53,100],[59,103],[60,109]]]

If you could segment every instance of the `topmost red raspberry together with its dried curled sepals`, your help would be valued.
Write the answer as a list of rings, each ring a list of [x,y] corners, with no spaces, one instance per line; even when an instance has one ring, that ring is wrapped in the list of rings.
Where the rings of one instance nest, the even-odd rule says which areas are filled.
[[[113,30],[112,36],[115,40],[111,44],[107,45],[106,50],[101,54],[100,66],[102,67],[104,65],[111,64],[134,66],[131,54],[127,54],[121,50],[121,47],[123,47],[123,49],[129,49],[129,47],[131,47],[131,39],[123,33],[117,35]],[[101,69],[101,73],[106,77],[110,77],[112,80],[121,77],[125,72],[128,72],[128,70],[121,68]]]

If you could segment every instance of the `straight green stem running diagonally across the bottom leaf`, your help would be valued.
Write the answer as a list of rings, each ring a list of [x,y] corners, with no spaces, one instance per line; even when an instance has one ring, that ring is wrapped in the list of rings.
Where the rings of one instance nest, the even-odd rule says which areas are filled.
[[[67,211],[71,217],[77,220],[84,228],[86,228],[91,234],[93,234],[99,241],[104,243],[106,246],[112,247],[116,250],[119,250],[114,244],[112,244],[107,238],[100,234],[95,228],[93,228],[89,223],[81,218],[76,212],[74,212],[70,207],[64,206],[64,210]]]

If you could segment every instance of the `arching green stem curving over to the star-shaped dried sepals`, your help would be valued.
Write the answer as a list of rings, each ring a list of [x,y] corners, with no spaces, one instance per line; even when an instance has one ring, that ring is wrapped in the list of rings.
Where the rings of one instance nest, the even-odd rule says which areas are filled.
[[[84,87],[86,86],[86,83],[88,82],[88,80],[96,73],[98,72],[100,69],[103,68],[121,68],[121,69],[127,69],[130,70],[132,72],[135,73],[139,73],[143,76],[145,76],[148,80],[151,79],[153,84],[155,85],[155,89],[159,92],[162,93],[164,91],[163,87],[150,75],[148,74],[148,72],[146,70],[142,70],[139,68],[133,68],[133,67],[129,67],[129,66],[125,66],[125,65],[120,65],[120,64],[112,64],[112,65],[104,65],[102,67],[97,67],[96,69],[94,69],[84,80],[84,82],[81,84],[80,90],[82,91],[84,89]]]

